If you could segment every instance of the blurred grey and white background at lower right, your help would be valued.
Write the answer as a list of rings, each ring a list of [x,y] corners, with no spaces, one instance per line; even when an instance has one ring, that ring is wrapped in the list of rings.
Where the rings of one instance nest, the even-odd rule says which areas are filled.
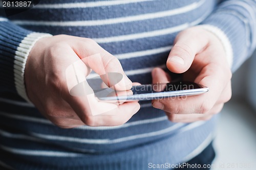
[[[217,169],[256,169],[256,51],[232,77],[214,145]],[[220,168],[219,165],[225,166]],[[250,166],[251,165],[251,166]]]

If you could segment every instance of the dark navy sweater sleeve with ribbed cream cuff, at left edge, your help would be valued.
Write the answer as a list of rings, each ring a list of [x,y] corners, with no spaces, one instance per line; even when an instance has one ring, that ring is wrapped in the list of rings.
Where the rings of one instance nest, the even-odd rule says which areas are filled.
[[[17,93],[28,100],[24,70],[25,64],[35,42],[50,34],[35,33],[0,17],[0,88]]]

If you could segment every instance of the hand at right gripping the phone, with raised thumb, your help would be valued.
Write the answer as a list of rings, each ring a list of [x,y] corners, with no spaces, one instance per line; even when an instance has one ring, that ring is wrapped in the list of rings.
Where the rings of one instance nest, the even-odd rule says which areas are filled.
[[[167,68],[179,74],[184,72],[184,81],[207,86],[209,91],[188,96],[186,100],[155,100],[153,107],[164,110],[172,122],[208,120],[231,98],[232,74],[222,43],[214,34],[194,27],[179,33],[174,44],[166,62]],[[170,81],[160,68],[152,71],[152,77],[153,83]]]

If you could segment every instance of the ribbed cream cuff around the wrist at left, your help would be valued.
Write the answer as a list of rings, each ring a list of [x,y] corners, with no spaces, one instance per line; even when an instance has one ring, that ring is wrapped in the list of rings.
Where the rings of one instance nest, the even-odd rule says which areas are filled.
[[[25,80],[24,80],[24,71],[25,71],[25,65],[28,59],[28,55],[37,40],[43,37],[50,37],[50,36],[52,35],[44,34],[44,33],[30,33],[22,40],[22,42],[20,42],[19,46],[17,47],[17,51],[15,52],[15,57],[14,57],[15,87],[18,94],[28,102],[30,101],[27,96]]]

